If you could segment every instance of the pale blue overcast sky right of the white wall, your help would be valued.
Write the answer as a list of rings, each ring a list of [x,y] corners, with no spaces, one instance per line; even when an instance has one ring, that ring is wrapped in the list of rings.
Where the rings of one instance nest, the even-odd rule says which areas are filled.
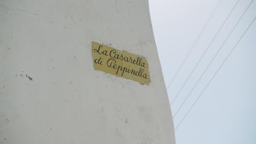
[[[235,27],[251,2],[252,0],[240,0],[238,3],[237,0],[149,0],[166,87],[170,85],[191,46],[210,19],[176,79],[167,89],[171,104],[209,46],[171,105],[172,115],[178,111],[207,65],[224,44],[173,118],[175,128],[253,21],[256,16],[256,1],[252,2]],[[219,7],[213,13],[218,4]],[[229,34],[230,37],[226,39]],[[256,20],[175,132],[177,144],[256,143]]]

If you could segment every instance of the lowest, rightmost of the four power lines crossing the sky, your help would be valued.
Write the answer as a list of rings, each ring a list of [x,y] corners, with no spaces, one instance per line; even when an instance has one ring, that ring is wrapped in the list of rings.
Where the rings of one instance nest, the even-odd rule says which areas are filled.
[[[233,49],[229,52],[229,55],[225,58],[225,60],[223,61],[223,63],[220,65],[220,67],[218,68],[218,70],[216,71],[216,73],[212,76],[211,80],[207,83],[206,87],[203,88],[203,91],[200,93],[199,97],[197,97],[197,99],[195,100],[194,104],[190,107],[190,109],[188,110],[188,112],[186,113],[186,115],[182,118],[181,122],[179,122],[178,126],[175,128],[175,130],[178,129],[179,125],[181,125],[181,123],[183,122],[183,120],[185,119],[185,117],[187,117],[188,113],[190,112],[190,110],[193,108],[193,106],[195,105],[195,103],[197,102],[197,100],[201,97],[202,93],[205,92],[205,89],[208,87],[208,85],[211,83],[212,79],[216,76],[216,74],[218,73],[218,71],[220,70],[220,68],[222,68],[223,64],[226,62],[226,59],[229,58],[229,56],[231,55],[231,53],[234,51],[235,47],[237,46],[237,44],[240,42],[240,40],[243,38],[243,35],[245,35],[245,33],[247,32],[247,30],[249,29],[249,27],[251,27],[252,23],[254,22],[254,20],[256,19],[256,16],[254,17],[253,21],[251,22],[251,24],[247,27],[246,31],[242,34],[242,36],[240,37],[240,39],[237,41],[236,45],[233,47]]]

